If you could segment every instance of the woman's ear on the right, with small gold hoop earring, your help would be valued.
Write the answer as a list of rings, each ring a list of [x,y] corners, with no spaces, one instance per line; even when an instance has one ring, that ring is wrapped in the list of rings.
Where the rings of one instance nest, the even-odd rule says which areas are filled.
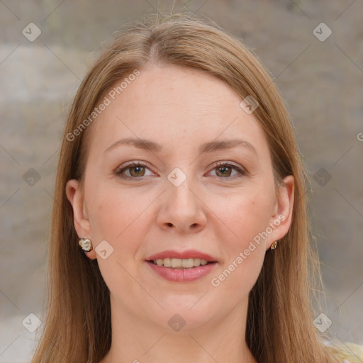
[[[272,233],[267,240],[267,250],[274,241],[281,240],[289,231],[294,207],[294,190],[294,177],[289,175],[284,178],[284,185],[279,187],[274,214],[269,223]]]

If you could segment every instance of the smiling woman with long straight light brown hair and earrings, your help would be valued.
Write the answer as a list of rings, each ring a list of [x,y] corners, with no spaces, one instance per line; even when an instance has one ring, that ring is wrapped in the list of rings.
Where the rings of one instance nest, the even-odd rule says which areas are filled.
[[[313,325],[305,179],[251,50],[188,14],[129,23],[65,126],[33,363],[362,362]]]

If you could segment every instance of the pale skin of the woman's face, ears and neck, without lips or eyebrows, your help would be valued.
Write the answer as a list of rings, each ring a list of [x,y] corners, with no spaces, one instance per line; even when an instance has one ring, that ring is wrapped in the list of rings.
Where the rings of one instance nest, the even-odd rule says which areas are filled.
[[[294,178],[285,177],[276,194],[267,139],[240,101],[209,74],[152,66],[91,125],[84,184],[70,180],[66,191],[79,238],[94,246],[86,255],[98,260],[111,291],[112,345],[101,363],[256,363],[245,343],[248,293],[266,251],[289,230]],[[162,150],[108,149],[122,138],[151,140]],[[202,143],[236,138],[255,152],[241,145],[199,152]],[[116,174],[132,161],[145,167]],[[216,162],[247,174],[228,165],[220,170]],[[186,175],[179,186],[167,179],[176,167]],[[284,220],[272,233],[212,286],[279,216]],[[103,240],[113,247],[107,259],[95,251]],[[189,249],[216,257],[211,274],[172,282],[145,262],[164,250]],[[168,324],[176,313],[185,321],[178,332]]]

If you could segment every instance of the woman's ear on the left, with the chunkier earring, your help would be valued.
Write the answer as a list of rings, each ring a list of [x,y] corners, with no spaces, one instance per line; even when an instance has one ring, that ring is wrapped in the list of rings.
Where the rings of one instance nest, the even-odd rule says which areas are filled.
[[[74,228],[79,238],[89,238],[92,240],[91,224],[89,223],[86,203],[84,202],[84,191],[76,179],[67,181],[65,191],[69,203],[72,204],[74,216]],[[96,252],[91,250],[85,252],[90,259],[96,258]]]

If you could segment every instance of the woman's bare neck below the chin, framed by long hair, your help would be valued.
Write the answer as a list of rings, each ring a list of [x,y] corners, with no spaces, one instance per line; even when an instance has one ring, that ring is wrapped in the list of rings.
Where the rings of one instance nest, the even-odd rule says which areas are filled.
[[[174,333],[123,310],[111,297],[112,344],[100,363],[257,363],[245,342],[246,317],[247,303]]]

